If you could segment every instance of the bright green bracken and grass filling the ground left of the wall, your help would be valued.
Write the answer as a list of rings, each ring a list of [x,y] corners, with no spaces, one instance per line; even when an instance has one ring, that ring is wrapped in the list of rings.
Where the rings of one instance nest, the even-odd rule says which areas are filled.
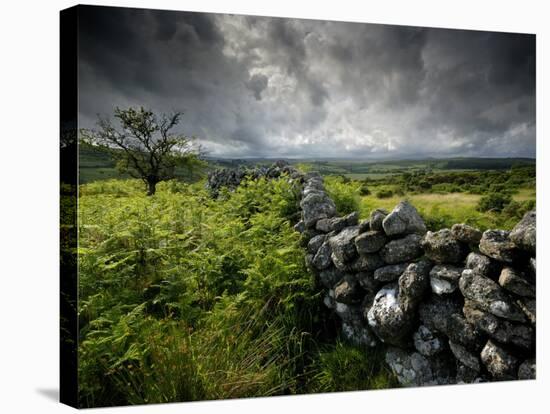
[[[137,180],[82,185],[80,404],[327,390],[312,379],[334,339],[292,229],[297,197],[285,179],[217,200],[203,183],[155,197]]]

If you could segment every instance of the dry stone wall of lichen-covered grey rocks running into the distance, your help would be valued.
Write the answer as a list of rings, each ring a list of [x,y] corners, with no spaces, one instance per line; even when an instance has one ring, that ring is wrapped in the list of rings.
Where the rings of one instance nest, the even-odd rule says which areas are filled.
[[[404,386],[534,379],[536,213],[511,231],[467,224],[427,231],[408,202],[367,220],[339,216],[315,172],[278,162],[250,173],[216,172],[216,195],[245,177],[287,174],[302,184],[308,269],[352,343],[386,348]]]

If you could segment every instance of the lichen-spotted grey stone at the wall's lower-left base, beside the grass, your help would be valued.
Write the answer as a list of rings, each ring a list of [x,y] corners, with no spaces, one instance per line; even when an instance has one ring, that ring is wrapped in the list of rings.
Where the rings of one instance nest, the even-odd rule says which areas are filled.
[[[392,347],[386,352],[386,363],[399,384],[405,387],[454,382],[448,361],[443,358],[428,358],[418,352],[411,353]]]

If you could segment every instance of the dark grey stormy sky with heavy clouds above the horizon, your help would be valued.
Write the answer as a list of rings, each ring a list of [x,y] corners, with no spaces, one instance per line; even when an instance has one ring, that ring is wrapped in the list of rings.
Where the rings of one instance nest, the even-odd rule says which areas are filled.
[[[535,156],[535,36],[83,7],[79,122],[182,111],[211,156]]]

